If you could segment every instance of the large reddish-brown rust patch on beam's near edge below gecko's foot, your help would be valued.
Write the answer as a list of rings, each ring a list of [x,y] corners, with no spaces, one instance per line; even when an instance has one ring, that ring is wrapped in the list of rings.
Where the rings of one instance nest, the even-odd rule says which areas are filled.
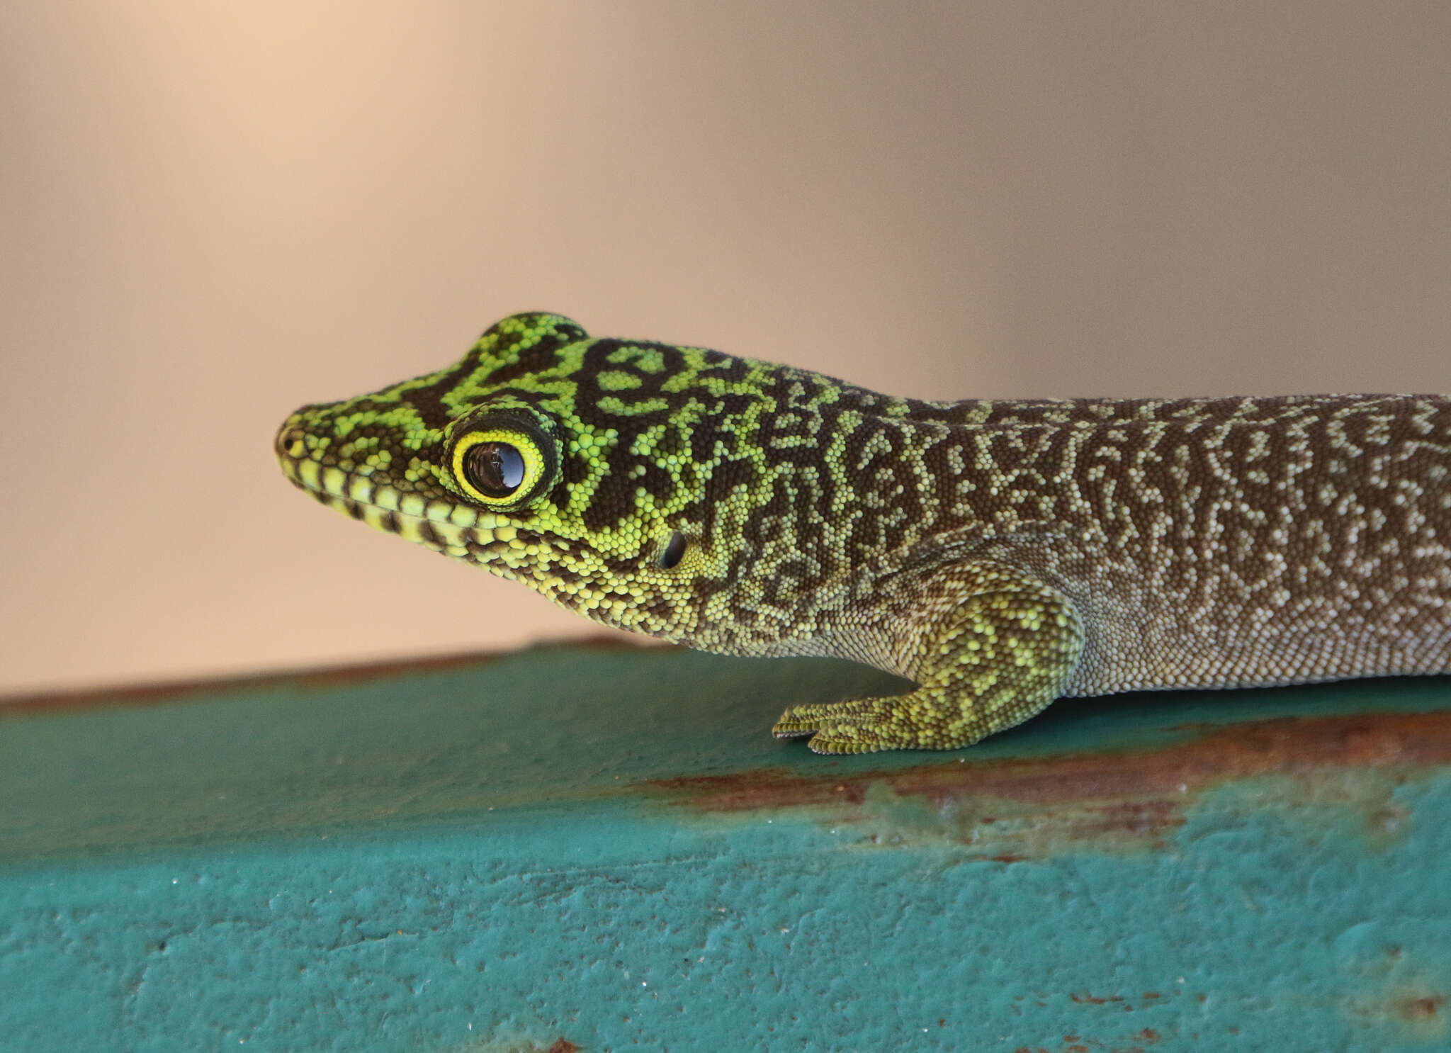
[[[866,840],[905,843],[916,830],[981,847],[978,859],[1016,863],[1065,841],[1159,846],[1197,795],[1229,782],[1451,763],[1451,712],[1280,717],[1190,730],[1199,735],[1142,750],[981,763],[953,757],[852,775],[757,769],[643,788],[702,814],[804,809],[831,825],[889,818],[885,838]],[[1394,817],[1376,808],[1368,828],[1393,830]]]

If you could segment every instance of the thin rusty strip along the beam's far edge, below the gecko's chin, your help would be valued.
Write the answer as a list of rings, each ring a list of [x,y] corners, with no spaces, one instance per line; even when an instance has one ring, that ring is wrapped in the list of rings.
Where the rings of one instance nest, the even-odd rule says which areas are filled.
[[[398,658],[392,661],[369,661],[351,666],[326,666],[322,669],[283,670],[280,673],[257,673],[232,677],[197,677],[168,680],[165,683],[138,683],[116,687],[87,687],[80,690],[35,692],[0,698],[0,718],[36,712],[67,712],[80,709],[106,709],[112,706],[145,706],[184,702],[192,698],[212,698],[234,692],[263,692],[274,687],[297,687],[302,690],[326,690],[347,687],[373,680],[387,680],[414,673],[437,673],[470,666],[488,666],[501,658],[512,658],[534,650],[569,651],[659,651],[669,654],[673,647],[636,644],[614,637],[586,638],[572,644],[546,644],[540,648],[519,651],[464,651],[440,654],[427,658]]]

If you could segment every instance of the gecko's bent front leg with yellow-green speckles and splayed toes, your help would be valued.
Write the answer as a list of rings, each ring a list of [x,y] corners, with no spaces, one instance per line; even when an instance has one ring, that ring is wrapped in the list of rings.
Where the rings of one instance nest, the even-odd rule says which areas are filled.
[[[952,750],[1040,712],[1082,651],[1069,599],[997,561],[949,564],[917,579],[908,609],[874,618],[917,689],[894,698],[788,708],[772,734],[811,735],[817,753]]]

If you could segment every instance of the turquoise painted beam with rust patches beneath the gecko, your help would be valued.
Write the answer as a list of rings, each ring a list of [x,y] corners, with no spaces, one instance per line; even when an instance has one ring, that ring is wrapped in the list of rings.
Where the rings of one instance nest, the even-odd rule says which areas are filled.
[[[756,734],[879,676],[554,648],[0,708],[0,1049],[1451,1044],[1445,680],[926,763]]]

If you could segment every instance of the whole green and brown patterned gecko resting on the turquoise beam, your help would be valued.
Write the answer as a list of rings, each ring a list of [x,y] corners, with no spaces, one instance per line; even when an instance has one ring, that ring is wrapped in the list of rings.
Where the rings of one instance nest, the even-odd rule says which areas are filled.
[[[820,753],[1451,672],[1444,396],[920,402],[525,313],[276,448],[319,502],[607,625],[918,685],[788,708]]]

